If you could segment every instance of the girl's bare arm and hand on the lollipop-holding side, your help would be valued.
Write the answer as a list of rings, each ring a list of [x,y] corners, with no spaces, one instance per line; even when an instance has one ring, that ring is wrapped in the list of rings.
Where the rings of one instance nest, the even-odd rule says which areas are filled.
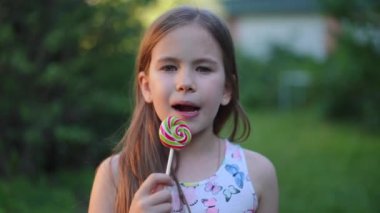
[[[115,212],[118,155],[104,160],[95,176],[91,191],[89,213]],[[170,212],[173,186],[170,176],[152,173],[133,196],[130,212]]]

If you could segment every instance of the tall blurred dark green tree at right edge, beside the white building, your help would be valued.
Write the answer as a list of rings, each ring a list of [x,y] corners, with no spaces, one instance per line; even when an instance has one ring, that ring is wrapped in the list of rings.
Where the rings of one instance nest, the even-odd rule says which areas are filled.
[[[341,24],[322,81],[330,118],[380,129],[380,2],[321,0]]]

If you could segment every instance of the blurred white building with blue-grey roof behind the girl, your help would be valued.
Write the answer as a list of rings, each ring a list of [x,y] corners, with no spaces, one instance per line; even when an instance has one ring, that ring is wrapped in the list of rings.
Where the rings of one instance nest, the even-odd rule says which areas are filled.
[[[317,0],[222,0],[235,45],[257,58],[273,45],[324,59],[339,25],[320,12]]]

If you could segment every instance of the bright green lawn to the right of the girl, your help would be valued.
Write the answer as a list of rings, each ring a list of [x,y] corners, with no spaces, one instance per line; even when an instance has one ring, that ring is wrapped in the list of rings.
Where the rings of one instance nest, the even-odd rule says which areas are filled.
[[[253,112],[244,146],[267,156],[280,212],[380,212],[380,136],[303,112]]]

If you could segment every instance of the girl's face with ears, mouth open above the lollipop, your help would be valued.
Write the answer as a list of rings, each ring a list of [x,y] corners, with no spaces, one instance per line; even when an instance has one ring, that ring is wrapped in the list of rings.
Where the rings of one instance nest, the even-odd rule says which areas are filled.
[[[191,132],[212,131],[220,105],[231,93],[226,88],[222,52],[211,34],[197,24],[178,27],[153,48],[148,74],[139,85],[158,117],[175,115]]]

